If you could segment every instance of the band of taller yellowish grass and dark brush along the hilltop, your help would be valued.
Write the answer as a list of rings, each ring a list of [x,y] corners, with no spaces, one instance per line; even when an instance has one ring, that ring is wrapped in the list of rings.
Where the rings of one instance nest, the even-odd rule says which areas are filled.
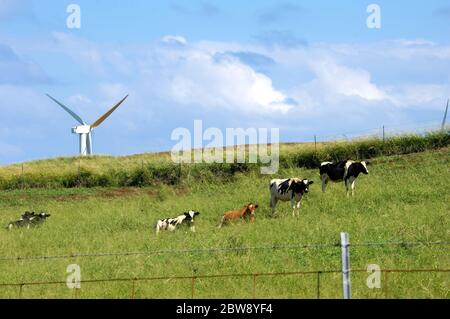
[[[439,149],[450,145],[450,131],[424,136],[403,135],[382,141],[378,138],[301,144],[281,144],[281,168],[317,168],[321,161],[347,158],[370,159]],[[249,146],[246,146],[247,148]],[[270,146],[271,149],[273,146]],[[224,152],[225,153],[225,152]],[[250,156],[246,152],[247,158]],[[170,153],[133,156],[67,157],[0,166],[0,189],[143,187],[189,184],[190,180],[231,181],[236,174],[259,172],[261,163],[176,164]],[[263,165],[266,166],[266,165]]]

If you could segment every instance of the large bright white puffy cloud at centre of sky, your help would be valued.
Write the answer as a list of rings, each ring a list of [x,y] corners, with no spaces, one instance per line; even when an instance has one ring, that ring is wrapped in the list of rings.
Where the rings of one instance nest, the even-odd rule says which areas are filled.
[[[180,104],[226,108],[243,112],[281,112],[291,109],[287,96],[273,87],[272,80],[238,59],[215,61],[193,52],[185,57],[171,81],[170,95]]]

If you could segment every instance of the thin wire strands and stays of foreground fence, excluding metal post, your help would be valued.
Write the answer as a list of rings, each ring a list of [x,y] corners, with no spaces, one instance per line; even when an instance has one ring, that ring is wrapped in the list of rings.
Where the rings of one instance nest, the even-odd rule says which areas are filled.
[[[386,241],[386,242],[362,242],[349,244],[349,247],[386,247],[386,246],[397,246],[405,248],[414,247],[440,247],[440,248],[450,248],[449,241],[416,241],[416,242],[405,242],[405,241]],[[85,258],[85,257],[107,257],[107,256],[137,256],[137,255],[155,255],[155,254],[185,254],[185,253],[230,253],[236,251],[260,251],[260,250],[285,250],[285,249],[335,249],[340,248],[339,243],[327,243],[327,244],[292,244],[292,245],[273,245],[273,246],[254,246],[254,247],[216,247],[216,248],[200,248],[200,249],[186,249],[186,250],[154,250],[147,252],[111,252],[111,253],[77,253],[77,254],[67,254],[59,256],[3,256],[0,257],[0,261],[32,261],[32,260],[50,260],[50,259],[67,259],[67,258]],[[381,274],[383,274],[383,295],[385,298],[389,298],[391,287],[390,287],[390,277],[393,273],[399,274],[414,274],[414,273],[439,273],[448,275],[450,268],[419,268],[419,269],[380,269]],[[351,273],[368,273],[368,269],[351,269]],[[83,279],[84,285],[90,284],[101,284],[101,283],[118,283],[125,282],[130,284],[130,292],[128,298],[136,298],[136,289],[138,284],[150,281],[188,281],[190,282],[190,298],[195,298],[198,289],[197,283],[200,280],[214,280],[220,278],[230,278],[232,280],[237,280],[239,278],[251,278],[251,295],[252,298],[260,297],[258,295],[258,278],[263,277],[286,277],[286,276],[310,276],[314,280],[315,292],[314,296],[317,299],[321,298],[322,290],[322,277],[325,274],[340,274],[342,270],[302,270],[302,271],[286,271],[286,272],[253,272],[253,273],[221,273],[221,274],[192,274],[186,276],[150,276],[150,277],[130,277],[130,278],[103,278],[103,279]],[[68,285],[67,281],[36,281],[36,282],[6,282],[0,283],[0,287],[10,287],[17,288],[17,298],[23,298],[23,290],[25,287],[32,286],[57,286],[57,285]],[[80,289],[73,289],[73,298],[78,298],[80,294]],[[142,296],[140,296],[142,297]]]

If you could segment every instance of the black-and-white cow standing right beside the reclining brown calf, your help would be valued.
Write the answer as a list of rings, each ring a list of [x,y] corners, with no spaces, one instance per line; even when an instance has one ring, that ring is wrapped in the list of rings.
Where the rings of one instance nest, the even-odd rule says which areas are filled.
[[[270,207],[272,208],[272,214],[275,213],[275,207],[279,200],[291,201],[292,216],[295,216],[295,209],[297,208],[297,214],[300,214],[300,207],[303,194],[309,192],[309,185],[313,184],[313,181],[300,178],[285,178],[285,179],[273,179],[270,181]]]

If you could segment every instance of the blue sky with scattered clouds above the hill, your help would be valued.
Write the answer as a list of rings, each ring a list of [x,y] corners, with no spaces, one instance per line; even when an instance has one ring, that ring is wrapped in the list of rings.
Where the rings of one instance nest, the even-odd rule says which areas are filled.
[[[81,28],[69,29],[69,4]],[[369,29],[369,4],[381,28]],[[171,132],[277,127],[309,141],[438,122],[450,97],[448,1],[0,0],[0,164],[169,150]]]

